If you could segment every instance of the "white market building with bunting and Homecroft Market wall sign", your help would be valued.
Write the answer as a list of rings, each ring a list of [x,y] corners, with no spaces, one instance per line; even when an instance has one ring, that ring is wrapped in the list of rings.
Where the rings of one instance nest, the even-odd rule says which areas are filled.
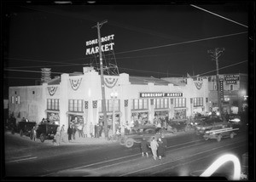
[[[108,123],[113,116],[111,93],[117,93],[114,113],[119,124],[143,119],[153,122],[155,116],[177,118],[189,117],[196,111],[206,114],[208,105],[208,80],[168,82],[154,77],[104,76]],[[9,114],[16,122],[22,117],[41,122],[42,118],[64,124],[77,117],[86,124],[102,119],[102,89],[100,74],[91,67],[84,67],[79,75],[61,74],[43,85],[9,88]]]

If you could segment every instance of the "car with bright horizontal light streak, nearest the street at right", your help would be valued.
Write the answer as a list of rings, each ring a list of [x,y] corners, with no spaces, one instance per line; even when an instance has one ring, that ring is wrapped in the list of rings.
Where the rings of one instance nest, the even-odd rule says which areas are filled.
[[[205,134],[204,134],[204,139],[208,140],[208,139],[217,139],[217,141],[219,142],[222,138],[229,138],[233,139],[234,136],[236,135],[236,131],[239,128],[231,128],[229,123],[226,123],[222,126],[218,125],[218,126],[214,126],[213,128],[211,128],[210,130],[208,130]]]

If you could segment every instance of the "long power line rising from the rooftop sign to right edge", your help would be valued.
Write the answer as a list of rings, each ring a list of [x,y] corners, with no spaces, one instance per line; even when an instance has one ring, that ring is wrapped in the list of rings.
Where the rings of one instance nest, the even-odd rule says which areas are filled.
[[[116,53],[116,54],[131,53],[131,52],[137,52],[137,51],[154,49],[154,48],[165,48],[165,47],[174,46],[174,45],[181,45],[181,44],[185,44],[185,43],[196,43],[196,42],[200,42],[200,41],[206,41],[206,40],[211,40],[211,39],[221,38],[221,37],[236,36],[236,35],[245,34],[245,33],[247,33],[247,31],[242,31],[242,32],[239,32],[239,33],[232,33],[232,34],[228,34],[228,35],[224,35],[224,36],[201,38],[201,39],[197,39],[197,40],[193,40],[193,41],[186,41],[186,42],[183,42],[183,43],[171,43],[171,44],[155,46],[155,47],[151,47],[151,48],[140,48],[140,49],[135,49],[135,50],[130,50],[130,51],[119,52],[119,53]]]

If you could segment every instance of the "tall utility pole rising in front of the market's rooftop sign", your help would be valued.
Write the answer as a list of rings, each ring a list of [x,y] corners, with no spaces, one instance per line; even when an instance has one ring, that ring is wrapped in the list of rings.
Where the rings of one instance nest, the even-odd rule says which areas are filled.
[[[107,111],[106,111],[106,96],[105,96],[105,84],[103,77],[103,63],[102,63],[102,38],[101,38],[101,27],[104,23],[107,23],[108,20],[102,21],[102,23],[97,22],[96,27],[98,31],[98,43],[99,43],[99,53],[100,53],[100,69],[101,69],[101,83],[102,83],[102,112],[103,112],[103,121],[104,121],[104,133],[105,139],[108,139],[108,121],[107,121]]]

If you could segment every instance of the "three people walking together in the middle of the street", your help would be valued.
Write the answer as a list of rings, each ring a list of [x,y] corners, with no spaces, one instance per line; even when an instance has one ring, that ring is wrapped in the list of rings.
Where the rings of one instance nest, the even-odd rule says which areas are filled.
[[[142,155],[144,156],[144,154],[146,154],[148,157],[148,152],[151,149],[154,160],[156,160],[157,157],[161,160],[162,156],[166,155],[166,147],[167,140],[164,135],[161,135],[158,140],[155,137],[152,137],[150,143],[148,143],[145,138],[143,138],[143,141],[141,142]]]

